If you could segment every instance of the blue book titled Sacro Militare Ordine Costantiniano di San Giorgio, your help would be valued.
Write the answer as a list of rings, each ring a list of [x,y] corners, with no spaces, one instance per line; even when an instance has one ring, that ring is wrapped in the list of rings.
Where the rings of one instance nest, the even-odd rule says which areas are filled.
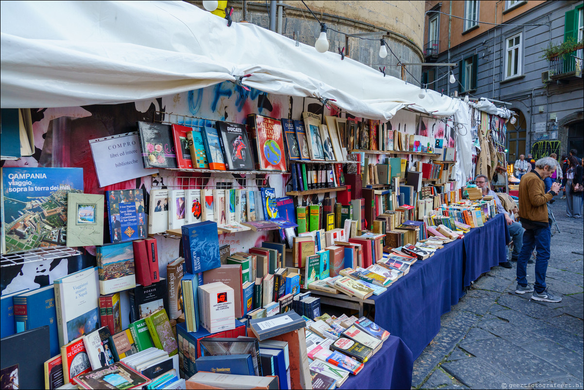
[[[110,242],[120,243],[148,236],[144,189],[106,191]]]

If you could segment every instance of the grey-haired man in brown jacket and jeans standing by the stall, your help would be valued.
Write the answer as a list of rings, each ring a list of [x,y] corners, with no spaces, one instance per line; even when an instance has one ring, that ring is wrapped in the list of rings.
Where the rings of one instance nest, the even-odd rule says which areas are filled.
[[[517,294],[532,292],[536,301],[561,302],[561,296],[555,296],[545,285],[545,272],[550,260],[551,230],[548,220],[547,202],[558,194],[559,183],[553,183],[550,191],[545,192],[544,179],[554,171],[558,162],[551,157],[540,158],[536,168],[523,175],[519,183],[519,216],[525,229],[523,247],[517,258]],[[536,284],[527,284],[527,260],[533,249],[537,248]],[[535,291],[534,291],[535,290]]]

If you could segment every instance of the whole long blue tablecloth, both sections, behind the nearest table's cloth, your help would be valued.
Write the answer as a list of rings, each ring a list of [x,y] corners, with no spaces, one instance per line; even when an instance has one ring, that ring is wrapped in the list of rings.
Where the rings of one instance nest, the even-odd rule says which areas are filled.
[[[416,261],[409,273],[375,301],[375,322],[400,337],[418,358],[440,330],[440,316],[450,311],[482,272],[505,261],[508,240],[505,218],[498,215],[471,229],[463,240]]]

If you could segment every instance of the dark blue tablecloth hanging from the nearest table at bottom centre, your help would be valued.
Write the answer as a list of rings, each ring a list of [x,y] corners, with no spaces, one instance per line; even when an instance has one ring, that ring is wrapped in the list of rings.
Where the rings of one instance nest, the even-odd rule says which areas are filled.
[[[390,336],[383,347],[350,375],[341,389],[409,389],[412,385],[412,352],[399,337]]]

